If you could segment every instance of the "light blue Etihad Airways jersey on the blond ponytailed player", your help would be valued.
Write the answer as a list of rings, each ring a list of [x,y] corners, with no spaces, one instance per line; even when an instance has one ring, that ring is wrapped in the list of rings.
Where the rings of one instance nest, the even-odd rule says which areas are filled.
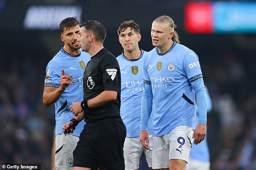
[[[190,82],[202,77],[195,52],[176,42],[164,54],[155,47],[145,57],[144,74],[153,93],[153,136],[178,126],[195,129],[195,91]]]

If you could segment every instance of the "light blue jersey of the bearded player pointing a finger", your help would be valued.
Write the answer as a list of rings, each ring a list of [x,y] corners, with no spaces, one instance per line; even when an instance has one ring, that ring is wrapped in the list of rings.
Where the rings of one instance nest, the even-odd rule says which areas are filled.
[[[44,87],[59,87],[62,69],[64,69],[66,75],[72,75],[72,84],[65,89],[59,100],[55,102],[55,135],[63,134],[63,124],[69,122],[69,120],[74,117],[70,111],[72,102],[83,101],[84,92],[82,79],[89,60],[90,54],[81,51],[81,49],[80,55],[74,56],[61,48],[59,53],[49,61],[46,67]],[[71,135],[80,136],[84,124],[85,122],[81,121]]]

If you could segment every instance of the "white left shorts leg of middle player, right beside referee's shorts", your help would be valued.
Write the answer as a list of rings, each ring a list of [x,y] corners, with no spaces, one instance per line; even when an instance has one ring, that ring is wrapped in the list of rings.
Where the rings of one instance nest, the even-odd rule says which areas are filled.
[[[124,164],[126,170],[138,169],[143,152],[140,137],[126,137],[124,141]]]

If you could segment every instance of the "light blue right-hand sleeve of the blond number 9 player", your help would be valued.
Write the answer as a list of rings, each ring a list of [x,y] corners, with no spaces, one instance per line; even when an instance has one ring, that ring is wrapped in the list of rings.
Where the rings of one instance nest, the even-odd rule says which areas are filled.
[[[198,56],[192,50],[185,53],[183,69],[189,82],[193,82],[198,78],[203,77]]]

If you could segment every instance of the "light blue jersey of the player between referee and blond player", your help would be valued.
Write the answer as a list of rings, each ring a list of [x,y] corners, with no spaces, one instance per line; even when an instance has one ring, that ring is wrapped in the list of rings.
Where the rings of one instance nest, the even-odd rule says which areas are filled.
[[[121,72],[121,108],[120,115],[126,125],[126,137],[140,136],[141,97],[143,93],[143,59],[148,52],[141,50],[138,59],[128,59],[124,52],[117,57]],[[152,118],[147,126],[152,135]]]

